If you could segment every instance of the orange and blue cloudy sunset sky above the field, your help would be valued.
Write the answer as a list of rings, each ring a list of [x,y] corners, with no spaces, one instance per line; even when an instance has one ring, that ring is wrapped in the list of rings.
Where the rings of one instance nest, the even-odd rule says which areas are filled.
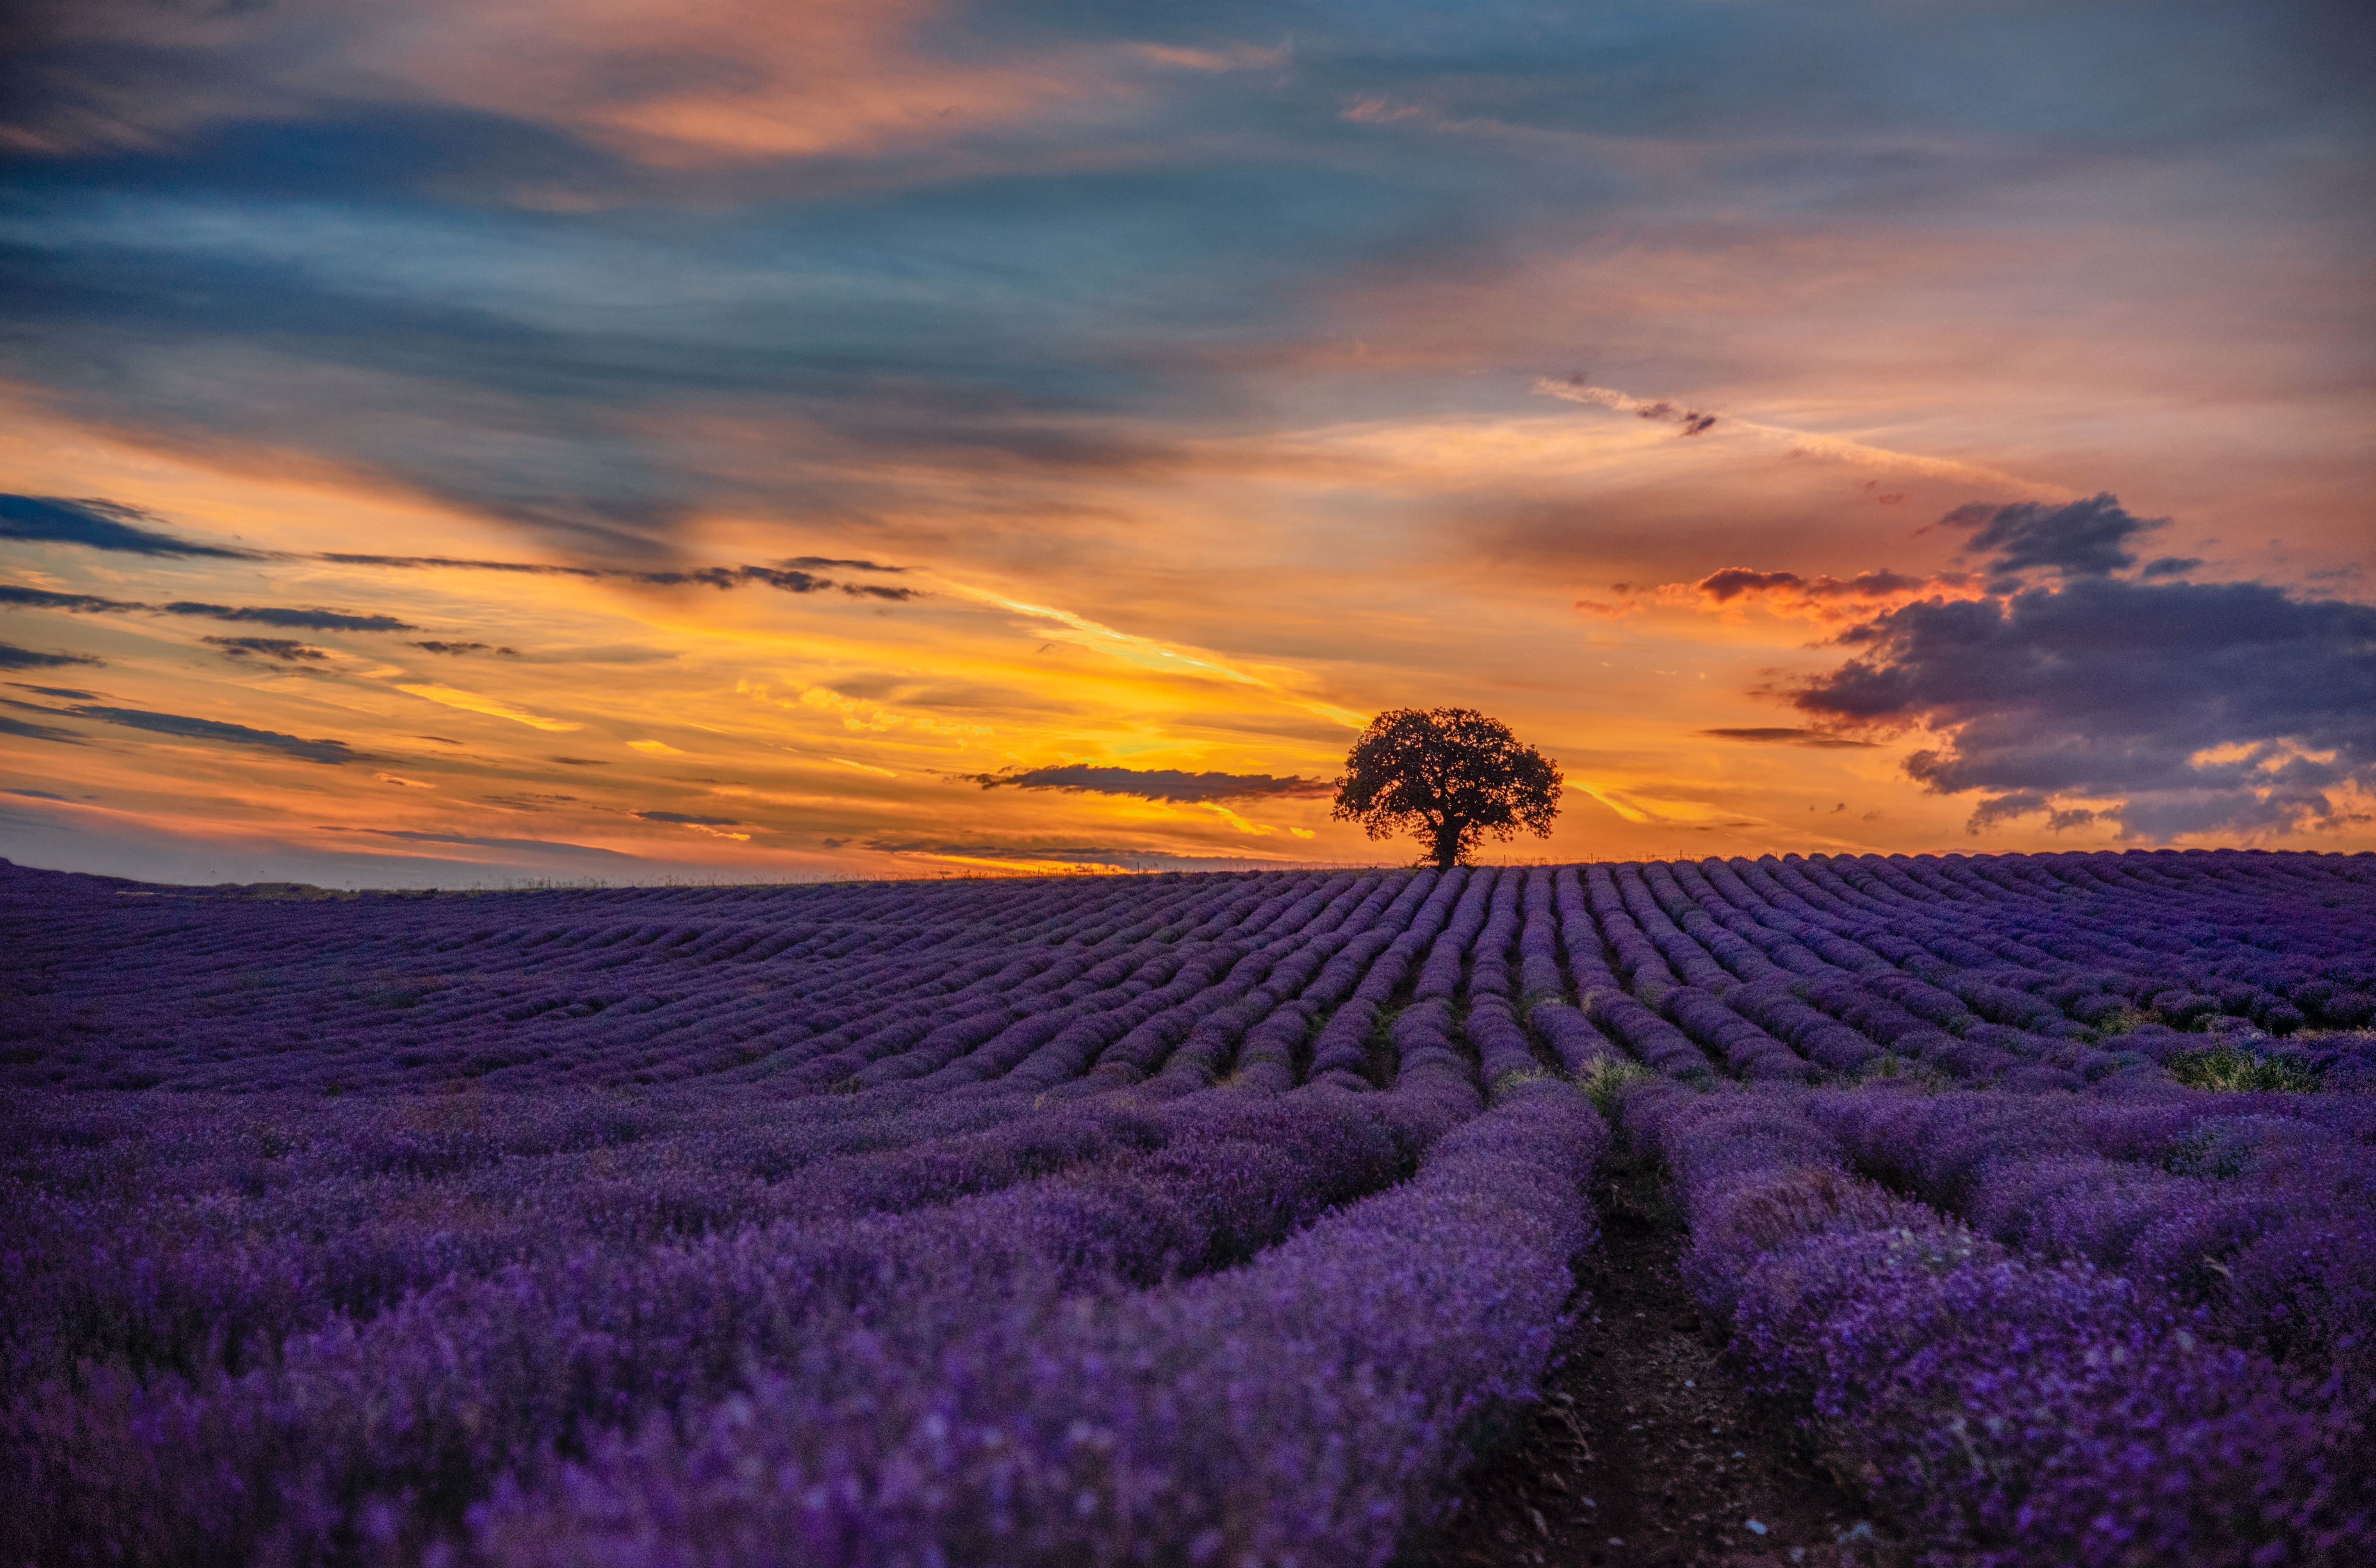
[[[2362,5],[7,26],[19,862],[2376,848]]]

